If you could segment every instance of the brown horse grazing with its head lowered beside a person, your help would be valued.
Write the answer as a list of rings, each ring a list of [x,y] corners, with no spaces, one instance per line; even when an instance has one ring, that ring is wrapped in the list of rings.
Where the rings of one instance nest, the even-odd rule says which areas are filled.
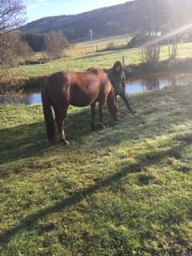
[[[86,72],[58,72],[42,79],[42,106],[46,122],[46,132],[50,142],[54,142],[55,127],[51,106],[61,141],[66,145],[64,119],[70,105],[91,106],[92,129],[94,129],[95,105],[99,102],[99,116],[107,102],[110,114],[117,120],[118,106],[115,103],[114,89],[102,69],[90,68]]]

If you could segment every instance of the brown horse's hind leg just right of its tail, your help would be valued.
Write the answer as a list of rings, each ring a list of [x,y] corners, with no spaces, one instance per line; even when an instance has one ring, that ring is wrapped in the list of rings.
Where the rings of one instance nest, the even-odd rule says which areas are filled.
[[[60,135],[60,140],[63,142],[64,145],[69,145],[70,142],[66,140],[66,134],[64,130],[64,119],[66,118],[66,112],[67,112],[68,106],[65,107],[59,107],[57,110],[55,110],[55,120],[58,124],[58,132]]]

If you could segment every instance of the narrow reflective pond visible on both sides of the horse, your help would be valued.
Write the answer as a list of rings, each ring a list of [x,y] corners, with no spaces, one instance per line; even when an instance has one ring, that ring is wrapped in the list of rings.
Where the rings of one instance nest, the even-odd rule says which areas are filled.
[[[148,77],[128,81],[126,83],[127,94],[146,93],[150,90],[161,90],[167,86],[191,85],[192,74],[178,74],[161,77]],[[26,90],[23,94],[0,95],[0,104],[39,104],[42,102],[39,90]]]

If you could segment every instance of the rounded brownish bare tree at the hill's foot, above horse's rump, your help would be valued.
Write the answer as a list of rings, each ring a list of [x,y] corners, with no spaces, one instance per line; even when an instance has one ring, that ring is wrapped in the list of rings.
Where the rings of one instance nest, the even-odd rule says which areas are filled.
[[[50,58],[62,58],[69,44],[63,32],[52,31],[46,35],[46,53]]]

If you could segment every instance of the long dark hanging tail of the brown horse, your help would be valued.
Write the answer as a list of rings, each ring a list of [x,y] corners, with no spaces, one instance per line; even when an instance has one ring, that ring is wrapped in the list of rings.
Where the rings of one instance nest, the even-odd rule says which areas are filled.
[[[50,142],[54,142],[55,126],[51,110],[50,98],[47,92],[47,78],[42,78],[42,109],[46,122],[46,133]]]

